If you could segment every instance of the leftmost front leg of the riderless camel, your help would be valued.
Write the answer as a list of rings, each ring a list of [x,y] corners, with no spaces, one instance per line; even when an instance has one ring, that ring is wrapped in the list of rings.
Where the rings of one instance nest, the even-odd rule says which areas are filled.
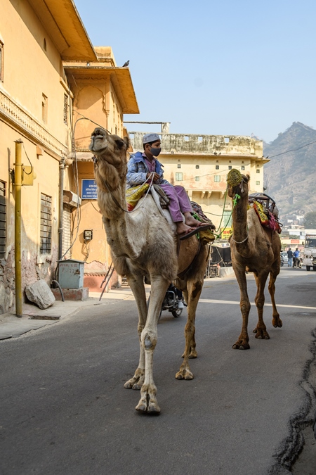
[[[242,312],[242,333],[232,348],[234,350],[249,350],[249,336],[248,336],[248,318],[250,312],[250,301],[247,293],[247,281],[244,268],[234,267],[234,272],[240,290],[240,311]]]

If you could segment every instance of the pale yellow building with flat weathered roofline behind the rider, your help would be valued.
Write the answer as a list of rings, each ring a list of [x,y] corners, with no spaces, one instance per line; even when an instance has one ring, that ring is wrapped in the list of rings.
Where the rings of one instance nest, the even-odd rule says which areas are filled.
[[[143,134],[129,132],[134,151],[143,151]],[[226,197],[226,177],[237,168],[250,175],[250,193],[263,191],[263,142],[244,136],[170,134],[168,122],[162,122],[162,152],[164,178],[184,186],[191,201],[202,206],[215,224],[217,234],[230,235],[232,203]],[[225,228],[225,229],[224,229]]]

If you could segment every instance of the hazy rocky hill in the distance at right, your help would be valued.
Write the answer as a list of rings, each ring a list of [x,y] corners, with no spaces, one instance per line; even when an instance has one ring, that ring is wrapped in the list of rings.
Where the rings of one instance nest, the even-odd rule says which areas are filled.
[[[286,152],[286,153],[284,153]],[[270,144],[263,142],[265,193],[275,199],[280,221],[316,210],[316,130],[293,122]]]

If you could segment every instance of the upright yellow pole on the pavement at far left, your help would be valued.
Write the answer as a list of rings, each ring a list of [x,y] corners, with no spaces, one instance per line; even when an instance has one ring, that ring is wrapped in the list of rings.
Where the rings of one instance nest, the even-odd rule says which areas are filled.
[[[15,140],[15,220],[14,220],[14,247],[15,247],[15,315],[22,317],[22,272],[21,272],[21,192],[22,192],[22,140]]]

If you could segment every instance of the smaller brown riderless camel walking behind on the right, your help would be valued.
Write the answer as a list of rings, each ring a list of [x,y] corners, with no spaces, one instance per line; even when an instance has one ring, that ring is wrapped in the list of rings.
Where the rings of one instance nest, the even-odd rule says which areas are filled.
[[[269,293],[272,302],[272,325],[282,327],[282,320],[275,306],[275,280],[280,270],[281,241],[275,230],[263,227],[254,208],[248,209],[249,175],[242,175],[238,170],[228,173],[228,196],[234,201],[232,210],[233,234],[230,238],[232,268],[240,289],[240,310],[242,312],[242,333],[232,348],[249,350],[248,317],[250,302],[247,293],[246,272],[254,272],[257,284],[255,298],[258,310],[258,323],[254,329],[256,338],[270,338],[263,322],[263,305],[265,303],[265,282],[269,281]]]

